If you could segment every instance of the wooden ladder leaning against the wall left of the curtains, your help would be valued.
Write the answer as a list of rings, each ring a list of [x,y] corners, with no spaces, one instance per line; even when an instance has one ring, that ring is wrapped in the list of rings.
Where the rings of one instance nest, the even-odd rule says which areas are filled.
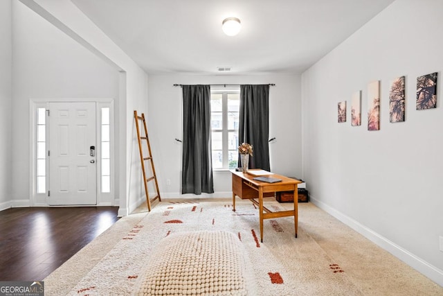
[[[143,183],[145,183],[145,193],[146,193],[146,202],[147,202],[147,210],[151,211],[151,202],[154,202],[157,198],[159,199],[159,201],[161,201],[160,198],[160,191],[159,191],[159,184],[157,182],[157,177],[155,174],[155,168],[154,168],[154,159],[152,159],[152,153],[151,153],[151,145],[150,145],[150,139],[147,137],[147,128],[146,128],[146,121],[145,121],[145,114],[142,113],[141,116],[137,115],[137,111],[134,110],[134,119],[136,120],[136,128],[137,128],[137,139],[138,139],[138,149],[140,150],[140,159],[141,159],[141,169],[143,171]],[[140,132],[140,121],[143,122],[143,128],[145,129],[145,135],[142,136],[141,132]],[[141,141],[145,140],[146,141],[146,145],[147,145],[147,152],[149,153],[149,155],[144,156],[143,155],[143,146]],[[152,168],[152,177],[147,177],[146,175],[146,167],[145,167],[145,162],[146,161],[150,161],[150,165]],[[147,189],[147,183],[150,181],[155,182],[155,189],[157,191],[157,195],[150,199],[150,195],[148,193],[148,189]]]

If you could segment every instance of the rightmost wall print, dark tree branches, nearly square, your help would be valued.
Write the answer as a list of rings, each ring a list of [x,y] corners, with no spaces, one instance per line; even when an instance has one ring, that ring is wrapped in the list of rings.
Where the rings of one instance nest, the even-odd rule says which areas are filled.
[[[417,110],[437,107],[437,73],[417,77]]]

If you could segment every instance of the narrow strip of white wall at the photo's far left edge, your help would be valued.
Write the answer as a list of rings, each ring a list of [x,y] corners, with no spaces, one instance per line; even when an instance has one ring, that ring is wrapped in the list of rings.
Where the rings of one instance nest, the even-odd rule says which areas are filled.
[[[0,1],[0,210],[10,207],[11,196],[11,1]]]

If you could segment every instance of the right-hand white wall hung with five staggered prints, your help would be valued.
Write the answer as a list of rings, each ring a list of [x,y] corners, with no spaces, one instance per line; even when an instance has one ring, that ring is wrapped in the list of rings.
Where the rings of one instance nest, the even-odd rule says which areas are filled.
[[[303,177],[311,200],[443,285],[443,1],[398,0],[302,74]],[[416,78],[437,71],[435,110],[415,110]],[[406,122],[389,122],[390,80],[406,76]],[[367,86],[381,80],[381,130]],[[350,98],[362,90],[362,125]],[[347,101],[347,123],[337,103]]]

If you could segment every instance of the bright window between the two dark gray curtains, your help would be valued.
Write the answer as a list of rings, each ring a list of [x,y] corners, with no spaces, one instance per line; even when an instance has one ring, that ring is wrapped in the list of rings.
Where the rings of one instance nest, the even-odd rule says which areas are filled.
[[[237,168],[239,91],[211,92],[213,168]]]

